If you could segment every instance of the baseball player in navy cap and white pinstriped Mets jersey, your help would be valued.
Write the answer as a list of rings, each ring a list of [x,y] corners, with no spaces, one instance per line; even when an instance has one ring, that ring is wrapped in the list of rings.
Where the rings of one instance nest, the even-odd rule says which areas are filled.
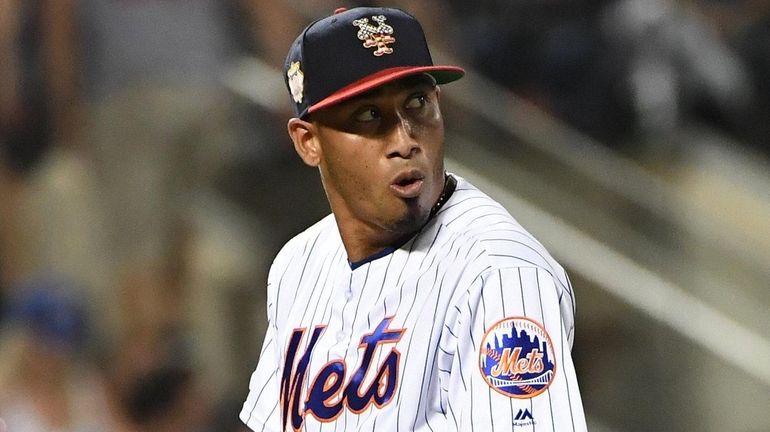
[[[254,431],[585,431],[564,269],[444,170],[437,84],[414,17],[356,8],[285,65],[288,132],[332,214],[268,276],[268,330],[240,413]]]

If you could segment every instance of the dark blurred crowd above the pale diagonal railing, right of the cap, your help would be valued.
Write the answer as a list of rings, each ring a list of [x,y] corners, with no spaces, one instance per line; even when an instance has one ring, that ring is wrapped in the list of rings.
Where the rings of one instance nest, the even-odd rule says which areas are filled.
[[[770,155],[765,0],[451,3],[470,64],[603,144],[671,157],[695,126]]]

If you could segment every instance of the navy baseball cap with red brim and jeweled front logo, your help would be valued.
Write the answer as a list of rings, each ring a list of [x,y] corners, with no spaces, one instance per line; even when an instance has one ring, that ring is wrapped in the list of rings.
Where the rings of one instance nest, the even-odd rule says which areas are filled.
[[[291,45],[284,65],[299,118],[420,73],[445,84],[460,79],[465,71],[434,65],[417,19],[385,7],[340,8],[313,22]]]

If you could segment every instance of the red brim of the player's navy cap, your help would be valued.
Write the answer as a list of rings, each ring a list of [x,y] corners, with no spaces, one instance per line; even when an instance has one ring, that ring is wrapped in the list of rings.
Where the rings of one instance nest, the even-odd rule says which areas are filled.
[[[457,66],[402,66],[384,69],[345,86],[318,103],[311,105],[307,110],[307,114],[338,104],[399,78],[421,73],[431,75],[436,80],[436,84],[446,84],[462,78],[465,75],[465,70]]]

